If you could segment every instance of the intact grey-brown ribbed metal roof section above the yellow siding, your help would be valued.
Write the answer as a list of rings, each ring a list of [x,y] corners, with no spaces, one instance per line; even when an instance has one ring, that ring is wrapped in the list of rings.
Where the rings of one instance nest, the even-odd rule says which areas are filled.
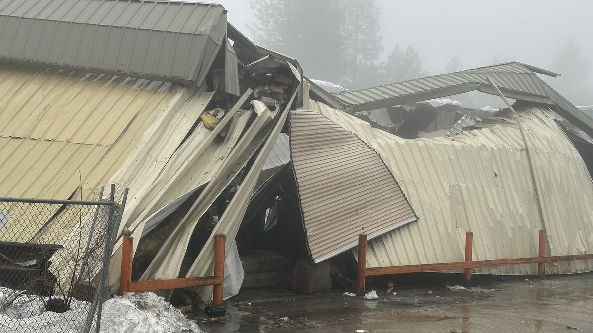
[[[0,0],[0,58],[200,85],[227,31],[220,5]]]

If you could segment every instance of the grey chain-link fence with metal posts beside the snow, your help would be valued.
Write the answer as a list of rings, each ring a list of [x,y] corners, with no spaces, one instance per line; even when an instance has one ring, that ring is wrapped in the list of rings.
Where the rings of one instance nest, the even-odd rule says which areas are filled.
[[[121,208],[0,198],[0,332],[99,331]]]

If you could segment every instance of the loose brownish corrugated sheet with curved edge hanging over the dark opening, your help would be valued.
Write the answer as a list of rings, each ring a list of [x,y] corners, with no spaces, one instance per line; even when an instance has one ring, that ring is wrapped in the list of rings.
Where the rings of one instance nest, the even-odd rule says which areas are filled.
[[[291,111],[290,144],[315,262],[353,248],[359,233],[372,238],[417,219],[377,152],[318,112]]]

